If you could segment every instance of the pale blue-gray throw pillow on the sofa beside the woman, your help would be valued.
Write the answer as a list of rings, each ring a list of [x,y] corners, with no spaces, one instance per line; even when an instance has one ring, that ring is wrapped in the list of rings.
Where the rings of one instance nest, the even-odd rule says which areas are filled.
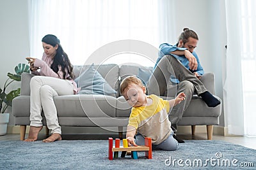
[[[101,76],[92,64],[84,71],[76,81],[77,86],[81,88],[79,94],[102,94],[115,96],[116,90],[112,89],[109,83]]]

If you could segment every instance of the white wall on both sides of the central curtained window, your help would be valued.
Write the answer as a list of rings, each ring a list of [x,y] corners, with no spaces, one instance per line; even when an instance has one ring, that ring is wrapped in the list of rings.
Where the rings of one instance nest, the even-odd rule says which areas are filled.
[[[222,63],[225,57],[227,32],[225,24],[225,2],[223,0],[179,0],[175,1],[177,38],[184,27],[198,33],[196,53],[206,72],[213,72],[216,80],[216,95],[223,98]],[[0,0],[0,85],[6,74],[29,55],[28,0]],[[173,43],[173,42],[170,42]],[[3,62],[4,60],[4,62]],[[224,114],[220,125],[224,124]],[[11,118],[10,124],[13,124]]]

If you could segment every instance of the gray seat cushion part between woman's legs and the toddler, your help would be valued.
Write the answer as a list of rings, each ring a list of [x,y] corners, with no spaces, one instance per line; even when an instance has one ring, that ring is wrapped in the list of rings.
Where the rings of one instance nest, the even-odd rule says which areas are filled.
[[[116,97],[78,94],[54,97],[58,117],[115,117]]]

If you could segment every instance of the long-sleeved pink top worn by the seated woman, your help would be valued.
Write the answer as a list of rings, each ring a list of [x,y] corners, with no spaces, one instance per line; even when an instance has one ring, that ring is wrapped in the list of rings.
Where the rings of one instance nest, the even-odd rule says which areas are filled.
[[[51,57],[47,56],[46,53],[43,53],[42,60],[35,59],[35,63],[34,63],[35,67],[40,67],[40,71],[32,71],[32,73],[36,74],[38,76],[50,76],[50,77],[54,77],[54,78],[61,78],[61,79],[68,80],[68,78],[70,78],[70,74],[66,74],[65,78],[63,78],[63,71],[61,71],[61,66],[59,66],[58,74],[55,73],[51,69],[52,62],[53,62],[53,59]],[[67,73],[67,71],[66,71],[66,73]],[[77,94],[78,89],[77,89],[76,82],[72,79],[70,79],[70,81],[73,84],[74,94]]]

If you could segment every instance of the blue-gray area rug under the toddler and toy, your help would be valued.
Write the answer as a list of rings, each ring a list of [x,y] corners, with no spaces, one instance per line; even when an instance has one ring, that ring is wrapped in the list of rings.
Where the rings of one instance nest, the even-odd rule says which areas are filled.
[[[187,140],[153,159],[120,154],[108,160],[108,140],[0,141],[0,169],[256,169],[256,150],[225,141]]]

